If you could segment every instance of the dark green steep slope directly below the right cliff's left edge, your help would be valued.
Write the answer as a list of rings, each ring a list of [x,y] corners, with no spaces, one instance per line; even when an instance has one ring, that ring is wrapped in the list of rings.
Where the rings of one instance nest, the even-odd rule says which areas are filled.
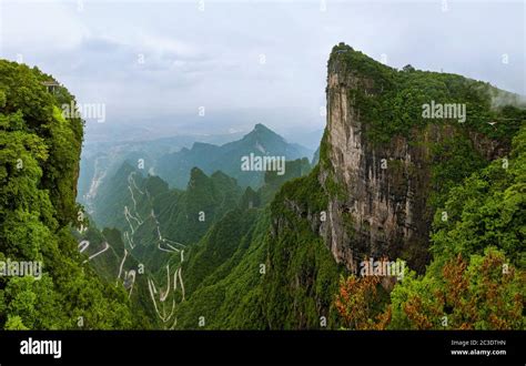
[[[273,207],[275,209],[275,206]],[[324,241],[290,207],[269,243],[269,277],[263,283],[265,315],[274,329],[337,327],[333,296],[343,268]],[[282,212],[283,212],[282,211]],[[322,317],[326,325],[322,325]]]

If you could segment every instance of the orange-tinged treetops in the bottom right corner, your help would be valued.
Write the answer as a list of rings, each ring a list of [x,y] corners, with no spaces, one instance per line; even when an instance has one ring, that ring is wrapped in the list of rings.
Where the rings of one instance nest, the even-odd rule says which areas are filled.
[[[390,328],[522,329],[525,272],[494,247],[466,261],[458,255],[422,278],[404,278],[391,294]]]

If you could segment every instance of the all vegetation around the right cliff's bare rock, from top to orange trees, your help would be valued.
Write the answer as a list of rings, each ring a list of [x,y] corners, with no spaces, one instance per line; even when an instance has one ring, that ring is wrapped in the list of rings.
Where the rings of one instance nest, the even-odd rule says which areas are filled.
[[[428,179],[414,194],[427,195],[425,215],[434,214],[425,273],[406,271],[387,297],[380,296],[386,284],[378,278],[342,279],[335,304],[345,326],[523,329],[526,110],[518,108],[518,95],[461,75],[411,65],[396,71],[345,44],[333,50],[331,69],[358,80],[347,98],[367,143],[390,151],[393,139],[404,138],[423,148],[411,176],[394,160],[387,172]],[[432,101],[465,104],[466,120],[424,118],[423,105]],[[326,149],[322,144],[321,164],[333,174]]]

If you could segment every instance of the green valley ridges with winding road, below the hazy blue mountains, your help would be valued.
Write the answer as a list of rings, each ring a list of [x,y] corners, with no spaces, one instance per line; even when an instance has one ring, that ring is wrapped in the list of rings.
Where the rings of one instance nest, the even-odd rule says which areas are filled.
[[[249,186],[243,192],[235,179],[221,171],[206,175],[198,167],[191,169],[186,190],[182,191],[169,189],[159,176],[143,175],[141,169],[124,163],[101,191],[105,200],[95,205],[99,224],[119,230],[99,233],[90,227],[83,235],[94,244],[93,253],[104,240],[111,242],[110,250],[91,261],[92,266],[109,281],[114,281],[117,273],[136,272],[138,266],[144,266],[143,273],[136,272],[131,302],[136,309],[134,316],[148,327],[196,328],[200,316],[206,318],[205,328],[264,327],[262,315],[253,315],[249,322],[245,311],[252,312],[256,306],[261,313],[263,306],[259,284],[264,277],[260,265],[265,263],[267,247],[265,206],[284,182],[311,170],[307,159],[285,164],[283,175],[266,172],[261,189]],[[183,253],[168,245],[174,243],[183,245],[175,247]],[[153,281],[161,288],[170,286],[168,268],[171,275],[178,275],[178,288],[170,292],[176,316],[164,322],[152,308],[158,306],[161,315],[164,311],[171,314],[172,297],[154,305],[155,294],[149,293],[149,283]],[[244,296],[242,292],[247,291],[249,284],[257,288]],[[165,303],[170,303],[168,308]],[[233,306],[242,308],[226,316]],[[148,324],[141,313],[153,315],[154,319]]]

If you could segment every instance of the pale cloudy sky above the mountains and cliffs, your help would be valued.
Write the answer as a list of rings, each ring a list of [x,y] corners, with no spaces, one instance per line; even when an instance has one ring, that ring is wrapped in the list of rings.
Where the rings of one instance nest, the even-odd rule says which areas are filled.
[[[411,63],[526,94],[525,8],[0,0],[0,57],[52,74],[79,103],[104,105],[104,123],[87,121],[99,132],[227,133],[264,123],[300,136],[325,125],[326,62],[341,41],[394,68]]]

